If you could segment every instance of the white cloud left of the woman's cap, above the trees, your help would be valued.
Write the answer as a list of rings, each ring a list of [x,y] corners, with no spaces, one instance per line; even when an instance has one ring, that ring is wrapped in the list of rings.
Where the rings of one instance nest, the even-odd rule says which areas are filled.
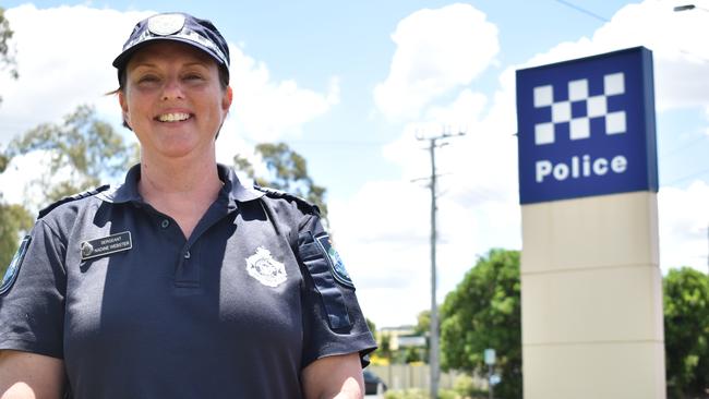
[[[20,78],[0,74],[0,143],[39,123],[58,122],[82,104],[96,105],[101,116],[119,122],[117,100],[104,95],[118,86],[111,62],[127,33],[148,14],[84,5],[7,10]]]

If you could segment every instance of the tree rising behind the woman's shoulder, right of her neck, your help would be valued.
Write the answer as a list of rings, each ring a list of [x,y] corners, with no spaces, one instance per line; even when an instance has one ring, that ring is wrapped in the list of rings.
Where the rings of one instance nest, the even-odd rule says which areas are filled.
[[[256,155],[266,165],[268,176],[256,176],[248,159],[237,155],[233,162],[254,182],[262,186],[283,190],[317,205],[323,219],[327,219],[326,189],[313,182],[308,174],[308,161],[286,143],[262,143],[255,147]]]

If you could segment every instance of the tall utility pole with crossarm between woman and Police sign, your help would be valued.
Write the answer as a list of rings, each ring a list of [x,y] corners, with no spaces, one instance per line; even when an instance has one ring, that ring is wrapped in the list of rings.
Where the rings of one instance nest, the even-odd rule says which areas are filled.
[[[442,142],[443,140],[461,136],[465,133],[460,132],[457,134],[450,134],[449,132],[443,132],[442,134],[434,137],[423,137],[418,136],[419,141],[429,141],[429,153],[431,154],[431,330],[430,330],[430,342],[429,342],[429,366],[431,367],[431,399],[435,399],[438,396],[438,375],[440,375],[440,362],[438,362],[438,306],[436,304],[436,265],[435,265],[435,245],[436,245],[436,178],[435,172],[435,149],[436,147],[443,147],[448,143]]]

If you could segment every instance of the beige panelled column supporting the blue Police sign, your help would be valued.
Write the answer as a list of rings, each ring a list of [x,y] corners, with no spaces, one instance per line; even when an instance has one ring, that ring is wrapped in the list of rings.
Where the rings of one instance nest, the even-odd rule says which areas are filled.
[[[521,209],[525,399],[664,398],[657,193]]]

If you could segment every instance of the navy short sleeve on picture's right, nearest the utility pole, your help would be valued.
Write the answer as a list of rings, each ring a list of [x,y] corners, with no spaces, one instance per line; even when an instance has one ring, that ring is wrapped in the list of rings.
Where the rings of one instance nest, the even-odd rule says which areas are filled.
[[[362,366],[376,342],[362,315],[354,285],[335,251],[320,218],[311,218],[298,234],[303,270],[303,364],[337,354],[359,352]]]

